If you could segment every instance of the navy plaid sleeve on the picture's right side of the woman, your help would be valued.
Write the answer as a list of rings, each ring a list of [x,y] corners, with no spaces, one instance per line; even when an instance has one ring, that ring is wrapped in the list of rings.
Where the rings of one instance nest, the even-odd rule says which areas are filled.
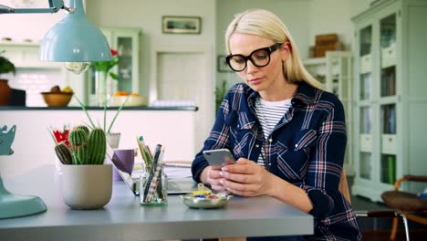
[[[345,114],[341,102],[318,102],[324,111],[318,125],[318,141],[309,160],[306,183],[301,188],[313,204],[310,215],[326,218],[342,205],[338,184],[347,145]],[[339,209],[339,208],[338,208]]]

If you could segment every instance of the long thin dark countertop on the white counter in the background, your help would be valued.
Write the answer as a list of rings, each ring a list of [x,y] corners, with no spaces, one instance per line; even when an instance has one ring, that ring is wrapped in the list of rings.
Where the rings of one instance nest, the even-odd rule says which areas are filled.
[[[86,107],[87,110],[104,110],[102,107]],[[118,110],[119,107],[108,107],[107,110]],[[81,110],[81,107],[72,106],[72,107],[26,107],[26,106],[0,106],[0,111],[2,110]],[[196,106],[175,106],[175,107],[123,107],[122,110],[190,110],[197,111],[199,110]]]

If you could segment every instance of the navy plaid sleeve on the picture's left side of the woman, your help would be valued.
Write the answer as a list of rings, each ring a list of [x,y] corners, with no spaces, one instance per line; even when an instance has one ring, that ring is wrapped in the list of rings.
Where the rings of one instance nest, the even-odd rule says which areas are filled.
[[[231,94],[229,91],[218,109],[216,120],[213,124],[213,129],[210,132],[206,141],[204,141],[203,149],[196,154],[193,160],[192,175],[193,175],[193,180],[196,183],[201,182],[200,174],[202,173],[203,169],[209,165],[206,159],[204,159],[203,157],[203,151],[220,149],[220,148],[230,149],[230,138],[229,138],[230,128],[225,124],[226,117],[230,110],[230,107],[229,107],[230,96]]]

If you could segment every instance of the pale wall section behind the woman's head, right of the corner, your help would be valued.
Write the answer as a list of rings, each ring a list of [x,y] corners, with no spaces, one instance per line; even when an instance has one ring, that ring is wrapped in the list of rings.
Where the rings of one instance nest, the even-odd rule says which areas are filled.
[[[314,45],[319,34],[338,33],[351,49],[353,26],[351,17],[370,6],[372,0],[217,0],[216,42],[217,55],[224,55],[224,33],[235,13],[250,8],[265,8],[279,16],[297,43],[300,58],[308,58],[308,47]],[[240,81],[233,72],[217,72],[216,85],[223,80],[227,86]]]

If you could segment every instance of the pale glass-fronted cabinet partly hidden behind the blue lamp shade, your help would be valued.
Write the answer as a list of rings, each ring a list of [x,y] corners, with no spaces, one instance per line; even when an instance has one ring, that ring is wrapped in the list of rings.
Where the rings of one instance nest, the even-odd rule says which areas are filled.
[[[119,81],[110,80],[110,95],[117,90],[141,94],[141,30],[138,28],[100,27],[109,47],[118,51],[119,64],[113,68]],[[97,86],[93,71],[89,71],[89,105],[97,105]]]

